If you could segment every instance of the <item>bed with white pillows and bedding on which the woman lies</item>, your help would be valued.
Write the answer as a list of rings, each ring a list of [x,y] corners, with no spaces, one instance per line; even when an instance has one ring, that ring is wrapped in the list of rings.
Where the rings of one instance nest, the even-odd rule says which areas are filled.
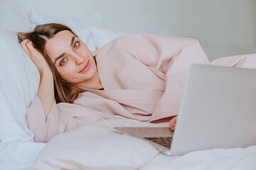
[[[90,1],[85,2],[87,5]],[[69,2],[52,4],[58,3],[67,6]],[[111,3],[116,5],[117,1]],[[128,118],[100,120],[60,134],[47,143],[33,142],[33,133],[26,126],[26,106],[36,96],[40,75],[18,45],[16,33],[42,23],[64,23],[78,33],[91,51],[114,38],[130,34],[107,26],[95,8],[92,9],[95,13],[76,11],[79,18],[53,13],[50,16],[38,11],[38,7],[44,10],[48,5],[30,0],[0,0],[0,169],[256,169],[256,146],[208,149],[169,157],[148,142],[113,129],[168,127],[168,123],[154,124]],[[252,52],[248,50],[247,53]]]

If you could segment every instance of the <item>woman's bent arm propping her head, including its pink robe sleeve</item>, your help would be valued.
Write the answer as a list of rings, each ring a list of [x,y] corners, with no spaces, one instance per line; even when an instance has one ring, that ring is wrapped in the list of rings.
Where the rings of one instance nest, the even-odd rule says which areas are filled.
[[[27,107],[28,128],[33,132],[35,142],[48,142],[55,135],[75,130],[80,125],[106,117],[105,113],[88,108],[86,104],[83,105],[90,98],[85,98],[85,102],[77,105],[75,103],[57,105],[54,99],[53,74],[43,55],[29,40],[23,40],[21,47],[41,74],[38,94]]]

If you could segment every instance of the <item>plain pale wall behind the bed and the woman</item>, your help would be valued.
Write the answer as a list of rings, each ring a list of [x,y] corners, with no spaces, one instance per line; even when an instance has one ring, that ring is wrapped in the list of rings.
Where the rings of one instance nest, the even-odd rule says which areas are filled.
[[[119,32],[197,38],[210,60],[256,52],[256,0],[31,1],[48,15],[101,13]]]

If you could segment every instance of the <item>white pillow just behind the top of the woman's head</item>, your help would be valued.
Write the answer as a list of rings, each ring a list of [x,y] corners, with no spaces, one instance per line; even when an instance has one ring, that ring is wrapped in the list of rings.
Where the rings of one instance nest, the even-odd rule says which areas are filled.
[[[55,18],[52,16],[43,15],[43,13],[40,13],[39,11],[36,11],[36,9],[32,8],[28,14],[28,17],[31,22],[30,28],[32,29],[44,23],[62,23],[70,27],[75,33],[78,33],[78,31],[89,28],[91,26],[101,28],[103,27],[100,13],[94,13],[92,16]]]

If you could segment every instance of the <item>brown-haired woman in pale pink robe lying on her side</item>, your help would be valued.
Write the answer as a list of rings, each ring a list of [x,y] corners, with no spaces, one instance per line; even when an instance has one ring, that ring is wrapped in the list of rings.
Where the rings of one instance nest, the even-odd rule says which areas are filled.
[[[189,65],[209,63],[192,38],[128,35],[90,52],[70,28],[48,23],[18,40],[41,74],[27,109],[36,142],[104,118],[171,120],[174,130]]]

